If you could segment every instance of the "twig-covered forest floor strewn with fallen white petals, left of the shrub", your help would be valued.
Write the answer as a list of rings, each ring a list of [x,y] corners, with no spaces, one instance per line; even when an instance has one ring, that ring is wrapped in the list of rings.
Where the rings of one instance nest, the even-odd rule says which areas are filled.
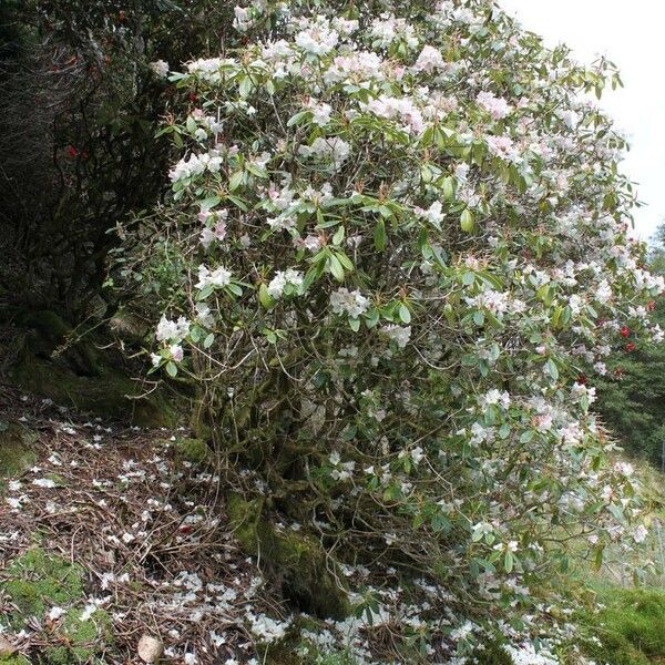
[[[0,387],[0,663],[143,662],[144,636],[172,663],[252,662],[252,613],[282,608],[182,431]]]

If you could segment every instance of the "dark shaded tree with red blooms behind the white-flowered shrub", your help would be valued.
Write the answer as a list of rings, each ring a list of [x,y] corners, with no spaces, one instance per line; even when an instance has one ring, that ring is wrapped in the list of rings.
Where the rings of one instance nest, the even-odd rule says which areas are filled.
[[[78,323],[104,311],[113,228],[163,191],[174,89],[151,62],[217,52],[207,0],[8,0],[0,9],[0,296]]]

